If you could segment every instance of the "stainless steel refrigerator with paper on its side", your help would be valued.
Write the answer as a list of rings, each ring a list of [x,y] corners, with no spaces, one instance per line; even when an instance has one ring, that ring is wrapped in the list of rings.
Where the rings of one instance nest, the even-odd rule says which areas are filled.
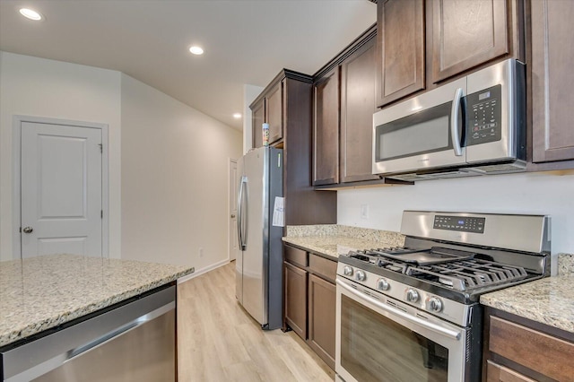
[[[238,162],[236,290],[264,329],[283,322],[283,150],[260,147]]]

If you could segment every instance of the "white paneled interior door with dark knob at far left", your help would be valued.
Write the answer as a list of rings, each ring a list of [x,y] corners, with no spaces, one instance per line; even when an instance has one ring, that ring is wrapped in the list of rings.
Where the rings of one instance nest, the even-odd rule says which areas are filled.
[[[102,256],[102,132],[21,125],[22,257]]]

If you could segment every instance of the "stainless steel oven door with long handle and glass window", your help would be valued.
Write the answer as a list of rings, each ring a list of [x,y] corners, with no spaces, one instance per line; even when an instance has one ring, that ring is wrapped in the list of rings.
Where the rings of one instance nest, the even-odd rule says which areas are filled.
[[[335,371],[339,380],[478,380],[480,376],[465,376],[468,329],[342,277],[337,276],[336,283]]]

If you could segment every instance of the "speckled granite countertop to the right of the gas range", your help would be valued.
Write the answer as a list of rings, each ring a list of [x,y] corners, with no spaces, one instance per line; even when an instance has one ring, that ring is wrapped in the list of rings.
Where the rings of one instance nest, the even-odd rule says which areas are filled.
[[[574,333],[574,255],[558,256],[559,274],[481,296],[481,304]]]

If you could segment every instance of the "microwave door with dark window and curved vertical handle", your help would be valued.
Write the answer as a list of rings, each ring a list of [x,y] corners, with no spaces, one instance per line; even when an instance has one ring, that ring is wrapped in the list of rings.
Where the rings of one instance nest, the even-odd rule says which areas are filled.
[[[465,78],[373,116],[373,173],[465,164]]]

